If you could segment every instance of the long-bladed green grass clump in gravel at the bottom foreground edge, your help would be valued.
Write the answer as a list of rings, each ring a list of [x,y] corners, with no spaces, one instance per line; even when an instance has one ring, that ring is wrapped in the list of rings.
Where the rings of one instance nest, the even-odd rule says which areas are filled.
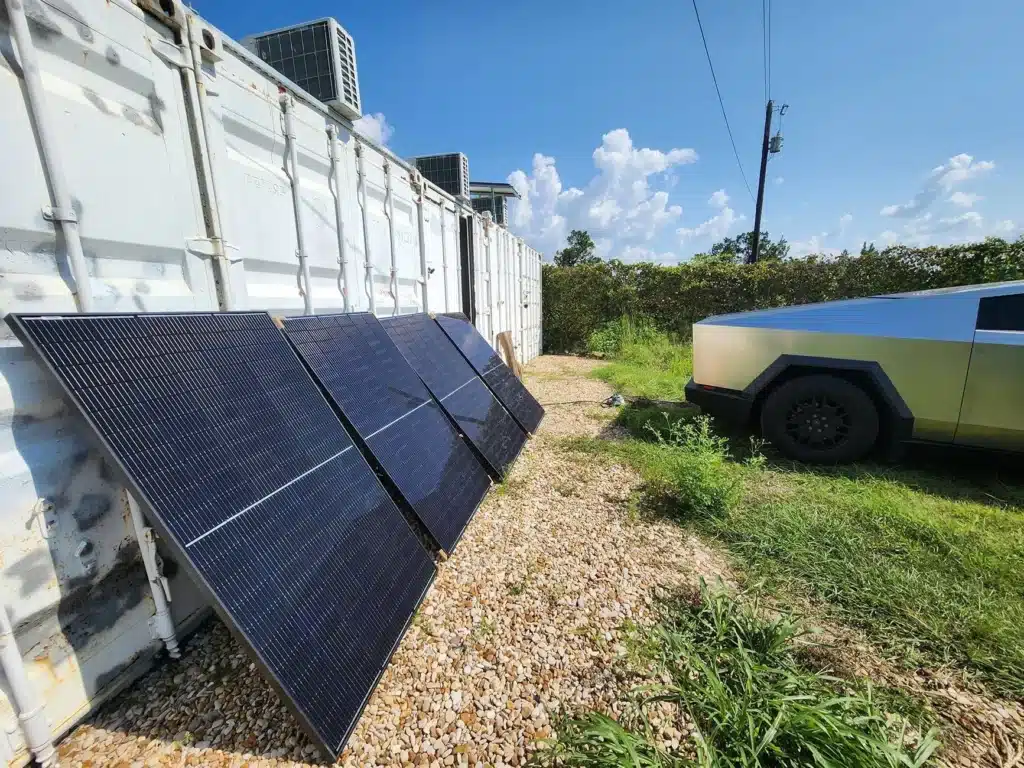
[[[659,682],[618,721],[597,713],[565,720],[536,764],[911,768],[938,748],[934,732],[915,732],[869,687],[802,667],[800,626],[766,616],[756,602],[703,589],[667,601],[653,629],[633,633],[646,635],[632,645]],[[666,744],[658,721],[691,724],[691,738]]]

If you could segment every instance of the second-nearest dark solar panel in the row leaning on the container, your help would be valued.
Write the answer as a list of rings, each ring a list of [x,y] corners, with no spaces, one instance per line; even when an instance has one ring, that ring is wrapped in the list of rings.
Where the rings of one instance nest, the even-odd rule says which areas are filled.
[[[373,314],[289,317],[285,335],[372,459],[452,552],[490,477]]]

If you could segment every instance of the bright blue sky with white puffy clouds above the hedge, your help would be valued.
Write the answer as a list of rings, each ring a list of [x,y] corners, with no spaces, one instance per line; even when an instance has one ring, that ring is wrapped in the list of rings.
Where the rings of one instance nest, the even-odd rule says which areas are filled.
[[[335,15],[388,145],[511,175],[525,195],[512,228],[549,258],[575,227],[607,256],[669,263],[752,227],[688,0],[195,5],[236,38]],[[1024,3],[772,6],[771,96],[790,110],[763,229],[797,254],[1021,232]],[[698,7],[756,193],[761,3]]]

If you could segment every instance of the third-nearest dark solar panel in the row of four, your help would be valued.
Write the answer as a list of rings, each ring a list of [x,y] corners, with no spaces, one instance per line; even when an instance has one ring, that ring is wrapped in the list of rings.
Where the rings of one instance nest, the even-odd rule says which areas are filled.
[[[381,325],[492,472],[504,477],[526,435],[466,358],[426,314],[385,317]]]

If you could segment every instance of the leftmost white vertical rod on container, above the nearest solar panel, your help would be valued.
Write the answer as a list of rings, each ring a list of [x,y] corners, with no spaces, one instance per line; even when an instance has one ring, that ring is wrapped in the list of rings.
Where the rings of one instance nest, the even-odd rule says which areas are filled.
[[[50,182],[53,195],[53,205],[45,215],[54,221],[63,233],[68,263],[75,282],[72,289],[75,303],[80,311],[88,312],[92,310],[89,269],[85,263],[85,252],[82,250],[82,239],[78,231],[78,215],[72,205],[71,190],[63,175],[57,137],[46,106],[46,92],[43,89],[39,60],[36,58],[36,46],[32,42],[32,33],[29,31],[29,19],[25,15],[23,1],[6,0],[6,3],[7,15],[10,18],[10,36],[20,59],[25,89],[29,95],[29,112],[32,114],[36,134],[39,136],[43,167],[46,169],[46,178]]]

